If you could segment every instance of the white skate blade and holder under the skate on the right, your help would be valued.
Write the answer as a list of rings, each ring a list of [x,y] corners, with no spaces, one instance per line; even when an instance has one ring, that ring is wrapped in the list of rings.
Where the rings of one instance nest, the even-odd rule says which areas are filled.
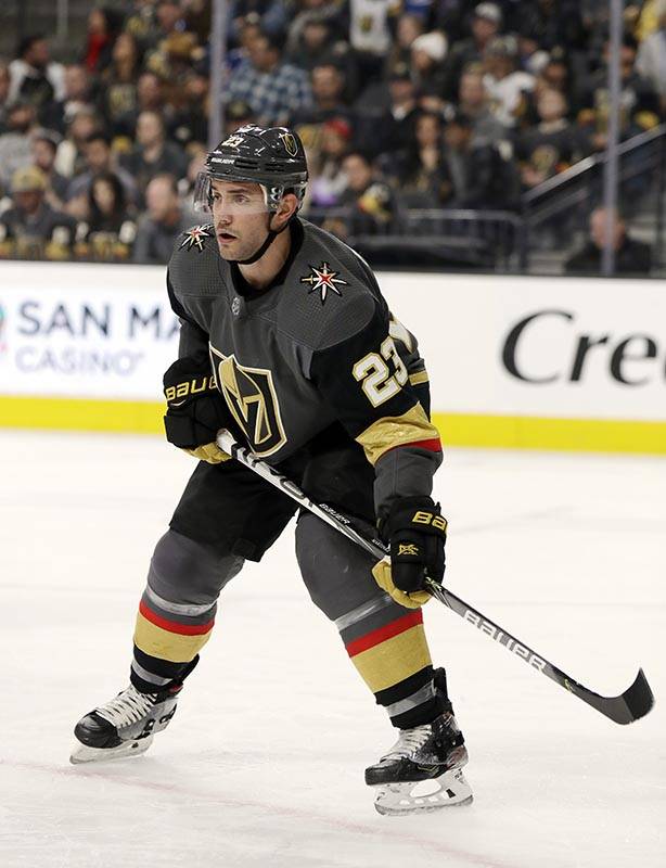
[[[443,807],[470,805],[472,788],[460,769],[438,778],[402,783],[380,784],[374,807],[379,814],[400,816],[425,814]]]

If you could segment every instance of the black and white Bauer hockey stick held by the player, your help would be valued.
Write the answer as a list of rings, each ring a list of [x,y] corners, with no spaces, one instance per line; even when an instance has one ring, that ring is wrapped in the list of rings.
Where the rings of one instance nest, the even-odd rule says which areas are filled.
[[[291,480],[287,480],[270,464],[261,461],[254,456],[244,446],[240,446],[233,436],[228,431],[219,431],[217,435],[217,445],[227,455],[235,458],[246,468],[257,473],[261,478],[280,488],[285,495],[289,495],[293,500],[307,509],[318,519],[321,519],[331,527],[334,527],[341,534],[351,539],[358,546],[361,546],[369,551],[373,557],[379,560],[388,554],[388,547],[377,537],[370,536],[363,528],[355,526],[353,519],[343,515],[336,510],[329,507],[326,503],[315,503],[309,497],[300,490],[300,488]],[[436,597],[439,602],[447,605],[457,615],[460,615],[464,621],[472,624],[481,633],[489,636],[499,644],[503,646],[508,651],[511,651],[520,660],[523,660],[533,669],[546,675],[560,687],[566,688],[571,693],[587,702],[598,712],[614,720],[616,724],[631,724],[641,717],[644,717],[652,706],[654,705],[654,695],[648,684],[643,671],[639,669],[636,680],[624,693],[619,697],[602,697],[589,690],[587,687],[578,684],[562,669],[554,666],[549,661],[537,654],[524,642],[516,639],[505,629],[499,627],[495,622],[487,618],[476,609],[465,603],[450,590],[447,590],[443,585],[434,582],[432,578],[426,579],[427,589]]]

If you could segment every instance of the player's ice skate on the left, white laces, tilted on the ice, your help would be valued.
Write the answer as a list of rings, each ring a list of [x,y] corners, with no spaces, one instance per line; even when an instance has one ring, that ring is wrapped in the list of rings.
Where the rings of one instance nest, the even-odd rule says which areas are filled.
[[[69,762],[97,763],[145,753],[153,735],[166,729],[176,714],[182,684],[157,693],[141,693],[130,685],[115,699],[99,705],[74,729],[76,745]]]

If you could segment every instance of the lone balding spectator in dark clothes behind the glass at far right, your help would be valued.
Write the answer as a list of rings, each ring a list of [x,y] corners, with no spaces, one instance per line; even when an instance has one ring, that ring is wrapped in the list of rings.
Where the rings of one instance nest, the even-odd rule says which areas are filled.
[[[582,250],[565,264],[567,275],[600,275],[603,247],[607,235],[607,210],[595,208],[590,215],[590,237]],[[611,217],[611,237],[615,248],[615,272],[618,275],[648,275],[652,254],[646,244],[627,234],[625,221],[617,212]]]

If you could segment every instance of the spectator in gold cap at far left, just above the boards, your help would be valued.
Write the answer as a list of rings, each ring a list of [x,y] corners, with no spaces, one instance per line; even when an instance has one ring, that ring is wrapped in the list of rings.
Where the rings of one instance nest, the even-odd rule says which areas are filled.
[[[36,166],[12,176],[13,207],[0,215],[0,252],[29,259],[68,259],[76,220],[44,202],[47,179]]]

